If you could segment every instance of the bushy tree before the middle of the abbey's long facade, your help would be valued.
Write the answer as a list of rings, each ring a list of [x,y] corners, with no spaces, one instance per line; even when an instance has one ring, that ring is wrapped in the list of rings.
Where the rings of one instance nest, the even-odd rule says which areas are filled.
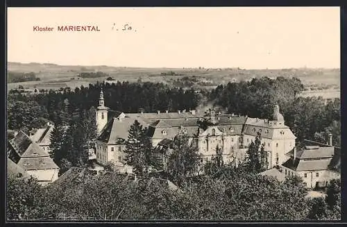
[[[201,155],[194,144],[189,144],[187,135],[176,135],[173,145],[167,161],[167,171],[171,180],[180,185],[187,176],[198,174]]]

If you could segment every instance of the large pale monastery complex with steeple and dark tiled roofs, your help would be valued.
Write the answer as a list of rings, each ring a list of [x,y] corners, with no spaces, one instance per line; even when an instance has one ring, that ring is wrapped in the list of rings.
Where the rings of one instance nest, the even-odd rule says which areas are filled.
[[[295,135],[285,126],[279,106],[275,106],[271,119],[226,115],[210,110],[203,112],[178,111],[155,113],[115,112],[105,107],[101,90],[96,113],[98,137],[96,138],[96,160],[101,165],[114,162],[124,168],[124,149],[130,126],[139,121],[147,127],[153,146],[162,146],[173,140],[178,133],[189,136],[196,142],[203,155],[201,162],[208,162],[216,155],[217,146],[223,151],[224,162],[242,162],[246,150],[260,135],[268,153],[269,168],[281,165],[289,157],[285,155],[295,146]]]

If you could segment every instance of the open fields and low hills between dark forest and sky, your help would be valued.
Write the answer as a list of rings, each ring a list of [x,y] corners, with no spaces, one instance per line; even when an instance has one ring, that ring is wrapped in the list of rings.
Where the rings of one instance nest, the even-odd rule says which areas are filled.
[[[135,82],[141,80],[153,83],[167,83],[173,85],[175,81],[184,77],[196,77],[198,80],[210,80],[212,84],[205,85],[211,89],[219,84],[228,82],[248,81],[251,78],[277,76],[300,78],[307,91],[303,96],[339,96],[340,70],[339,69],[204,69],[204,68],[135,68],[135,67],[108,67],[108,66],[81,66],[81,65],[55,65],[40,63],[8,62],[9,72],[34,72],[40,81],[26,81],[8,83],[8,90],[22,85],[26,89],[40,86],[40,89],[49,89],[52,83],[66,84],[67,87],[88,86],[90,83],[104,81],[108,76],[99,78],[79,78],[81,72],[104,72],[117,81]],[[196,86],[198,87],[198,86]],[[201,86],[200,86],[201,87]],[[323,88],[322,88],[323,87]],[[319,90],[321,89],[321,90]],[[322,90],[323,89],[323,90]],[[334,91],[332,91],[334,90]]]

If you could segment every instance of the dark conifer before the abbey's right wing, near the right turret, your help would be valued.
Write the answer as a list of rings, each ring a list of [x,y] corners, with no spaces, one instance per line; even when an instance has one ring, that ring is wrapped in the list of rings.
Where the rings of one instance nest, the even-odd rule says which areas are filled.
[[[261,144],[260,135],[257,135],[255,141],[249,145],[245,165],[253,173],[260,173],[267,169],[267,155],[264,145]]]

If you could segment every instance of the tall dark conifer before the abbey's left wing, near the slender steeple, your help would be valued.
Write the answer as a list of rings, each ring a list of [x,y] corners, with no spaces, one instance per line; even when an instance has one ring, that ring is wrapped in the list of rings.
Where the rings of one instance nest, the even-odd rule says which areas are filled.
[[[126,164],[133,167],[133,172],[138,176],[148,176],[149,168],[153,166],[153,147],[151,140],[146,136],[146,128],[137,120],[129,128],[124,152]]]

